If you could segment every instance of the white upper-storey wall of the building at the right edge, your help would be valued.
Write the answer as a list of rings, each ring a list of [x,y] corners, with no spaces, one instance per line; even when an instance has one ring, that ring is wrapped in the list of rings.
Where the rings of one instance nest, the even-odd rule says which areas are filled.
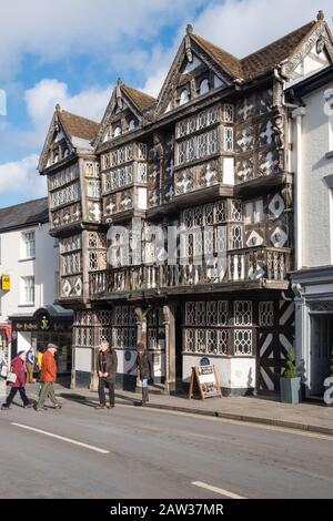
[[[333,82],[323,89],[303,98],[305,115],[302,116],[302,168],[297,172],[300,180],[299,207],[302,210],[302,252],[296,252],[300,267],[325,266],[331,258],[330,191],[323,178],[333,173],[333,159],[325,154],[332,150],[331,124],[324,111],[324,92],[333,88]],[[295,133],[296,121],[293,121],[293,152],[291,168],[295,172],[296,154],[300,146]],[[331,219],[331,228],[330,228]]]

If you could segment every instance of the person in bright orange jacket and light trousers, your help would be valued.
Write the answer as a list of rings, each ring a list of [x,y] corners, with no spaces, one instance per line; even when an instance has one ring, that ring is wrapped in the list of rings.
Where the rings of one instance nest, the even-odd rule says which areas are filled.
[[[54,394],[53,384],[57,381],[57,364],[54,355],[58,350],[56,344],[48,344],[47,350],[43,354],[42,365],[41,365],[41,390],[39,395],[38,402],[36,405],[36,410],[47,410],[44,402],[47,398],[50,398],[54,405],[54,409],[61,409],[62,403],[60,403]]]

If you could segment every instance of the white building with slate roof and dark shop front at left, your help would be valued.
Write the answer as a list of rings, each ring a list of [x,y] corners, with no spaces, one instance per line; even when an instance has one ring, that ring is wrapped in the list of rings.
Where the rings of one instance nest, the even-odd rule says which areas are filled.
[[[8,357],[53,341],[60,370],[71,367],[71,311],[58,299],[58,244],[49,235],[48,200],[0,210],[0,348]]]

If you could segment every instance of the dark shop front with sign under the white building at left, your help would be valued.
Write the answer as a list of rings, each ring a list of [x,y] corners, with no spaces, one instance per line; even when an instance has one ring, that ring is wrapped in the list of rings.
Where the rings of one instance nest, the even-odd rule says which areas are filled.
[[[44,348],[56,344],[58,350],[58,371],[67,375],[72,368],[72,313],[58,311],[54,307],[38,309],[32,316],[10,317],[12,324],[11,356],[20,350]]]

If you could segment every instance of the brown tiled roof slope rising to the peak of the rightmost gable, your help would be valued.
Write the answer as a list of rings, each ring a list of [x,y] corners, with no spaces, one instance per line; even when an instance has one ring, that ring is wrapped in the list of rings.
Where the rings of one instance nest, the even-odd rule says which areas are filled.
[[[283,38],[259,49],[241,60],[244,79],[258,78],[265,72],[273,70],[276,65],[291,57],[302,41],[316,25],[316,21],[311,21]]]

